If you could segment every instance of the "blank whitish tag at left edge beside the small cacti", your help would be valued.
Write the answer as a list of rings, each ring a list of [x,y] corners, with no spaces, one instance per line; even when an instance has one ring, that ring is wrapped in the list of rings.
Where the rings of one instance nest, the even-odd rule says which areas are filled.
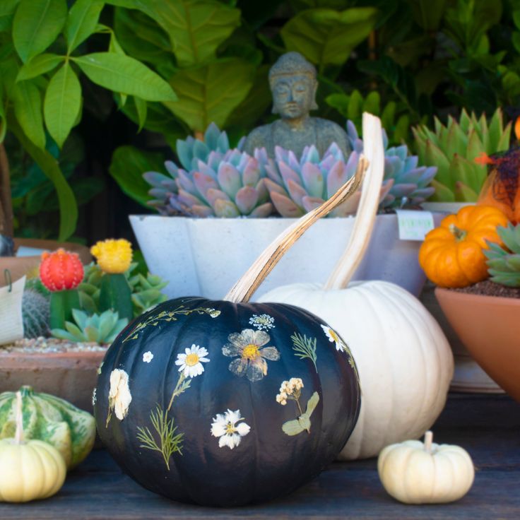
[[[0,288],[0,345],[23,338],[22,297],[25,276]]]

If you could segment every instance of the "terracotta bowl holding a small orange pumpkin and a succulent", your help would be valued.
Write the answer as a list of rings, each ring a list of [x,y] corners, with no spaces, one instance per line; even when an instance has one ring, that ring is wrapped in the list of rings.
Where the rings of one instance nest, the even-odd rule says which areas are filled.
[[[463,345],[520,400],[520,225],[495,206],[466,206],[444,218],[427,235],[419,261]]]

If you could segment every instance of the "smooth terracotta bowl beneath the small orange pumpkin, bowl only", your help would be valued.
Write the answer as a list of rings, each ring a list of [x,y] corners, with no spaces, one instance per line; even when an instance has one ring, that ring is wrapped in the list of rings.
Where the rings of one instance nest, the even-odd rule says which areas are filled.
[[[520,300],[442,288],[435,296],[473,358],[520,402]]]

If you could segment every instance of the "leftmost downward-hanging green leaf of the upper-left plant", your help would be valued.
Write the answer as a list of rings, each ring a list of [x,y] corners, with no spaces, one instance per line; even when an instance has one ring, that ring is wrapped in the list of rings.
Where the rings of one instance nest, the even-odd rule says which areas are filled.
[[[45,148],[42,95],[30,81],[18,81],[13,90],[14,113],[25,135],[38,148]]]

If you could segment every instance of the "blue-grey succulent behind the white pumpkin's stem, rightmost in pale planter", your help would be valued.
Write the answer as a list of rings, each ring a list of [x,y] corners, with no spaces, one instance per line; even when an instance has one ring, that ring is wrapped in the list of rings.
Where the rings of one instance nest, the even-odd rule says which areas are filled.
[[[347,122],[347,135],[352,149],[361,153],[363,151],[363,141],[358,136],[358,131],[351,121]],[[419,206],[435,193],[435,188],[429,186],[429,184],[437,174],[437,167],[418,166],[418,156],[409,155],[408,146],[406,145],[388,148],[388,137],[384,130],[383,146],[383,186],[389,186],[389,190],[379,203],[380,211],[391,208]],[[428,163],[423,162],[423,164]]]

